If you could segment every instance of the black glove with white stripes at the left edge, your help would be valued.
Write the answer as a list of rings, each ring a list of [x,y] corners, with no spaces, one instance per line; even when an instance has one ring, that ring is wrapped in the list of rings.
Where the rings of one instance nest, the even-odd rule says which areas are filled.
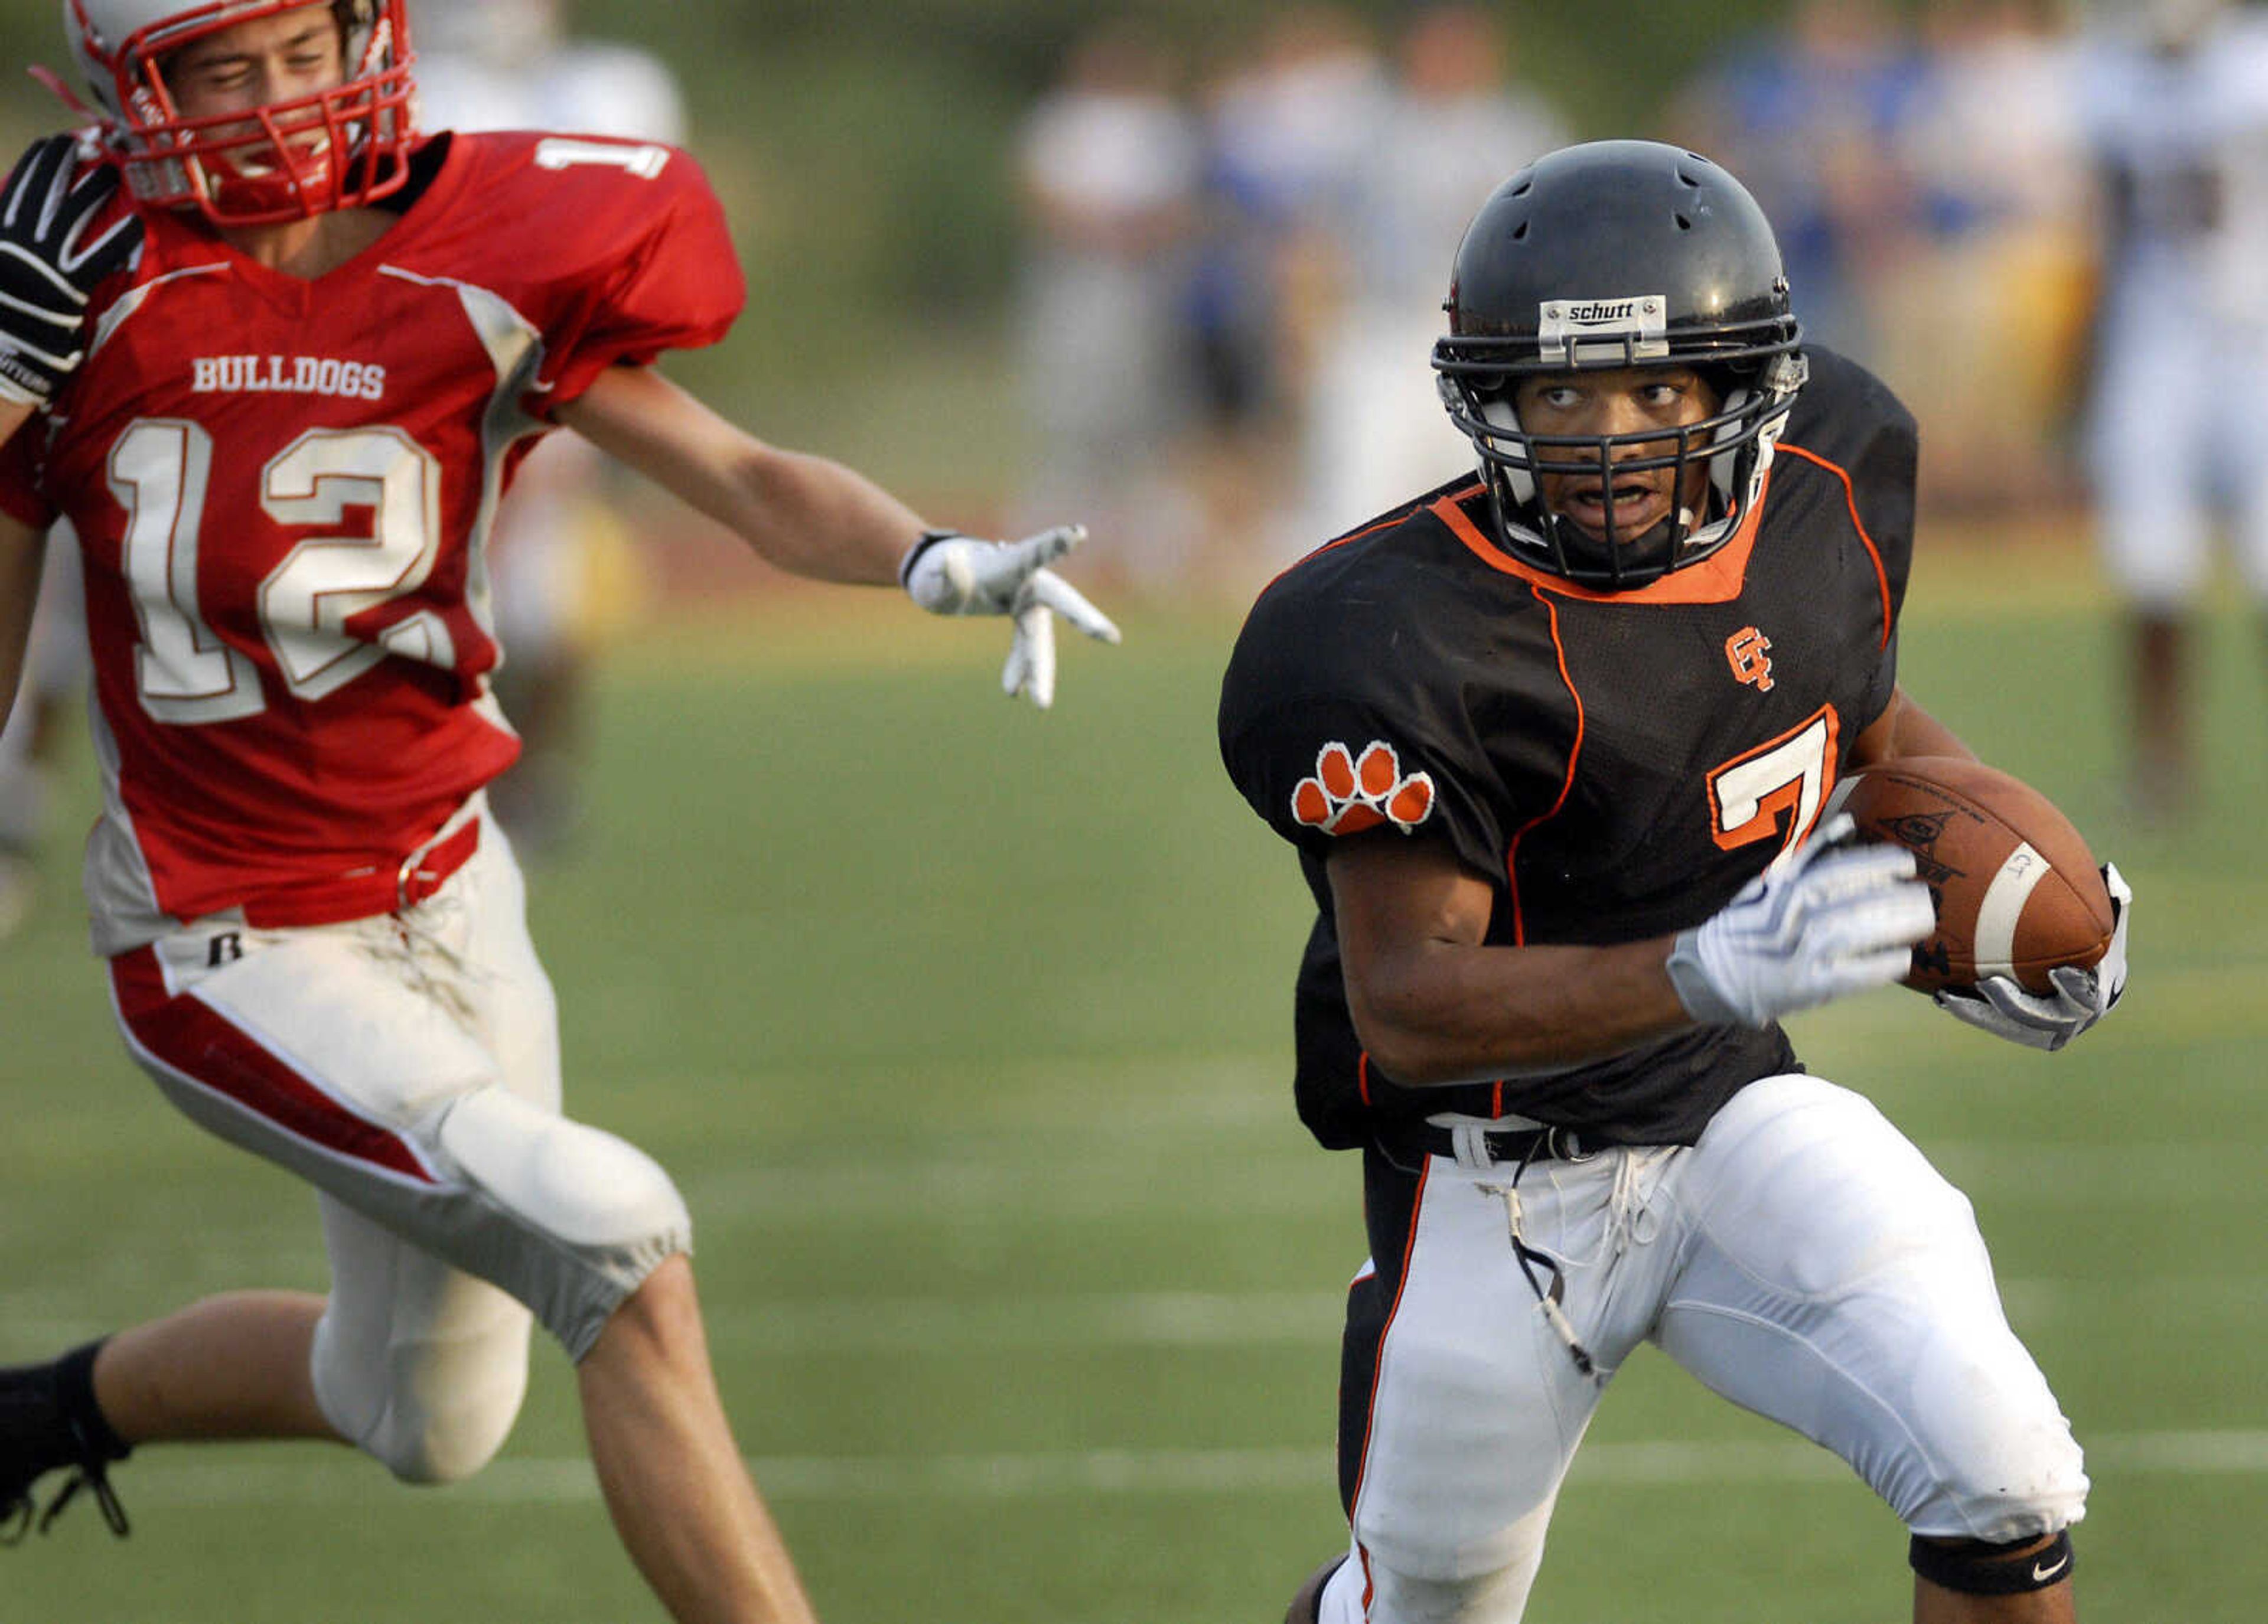
[[[0,191],[0,399],[45,406],[84,358],[86,295],[134,259],[141,220],[86,229],[118,191],[118,170],[79,168],[77,136],[34,141]]]

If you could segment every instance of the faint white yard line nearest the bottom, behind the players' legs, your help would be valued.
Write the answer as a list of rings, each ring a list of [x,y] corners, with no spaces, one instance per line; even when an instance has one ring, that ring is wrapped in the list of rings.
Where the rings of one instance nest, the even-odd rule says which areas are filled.
[[[2084,1443],[2096,1481],[2268,1474],[2268,1431],[2114,1433]],[[1329,1495],[1334,1481],[1331,1452],[1315,1447],[773,1456],[751,1461],[748,1470],[764,1495],[780,1502]],[[1701,1488],[1835,1481],[1848,1477],[1848,1467],[1805,1443],[1594,1443],[1576,1456],[1574,1477],[1590,1490]],[[225,1463],[213,1452],[188,1452],[179,1461],[145,1456],[118,1481],[134,1511],[345,1504],[390,1492],[376,1467],[333,1454],[306,1463]],[[503,1458],[440,1492],[499,1506],[558,1506],[594,1502],[599,1486],[581,1458]]]

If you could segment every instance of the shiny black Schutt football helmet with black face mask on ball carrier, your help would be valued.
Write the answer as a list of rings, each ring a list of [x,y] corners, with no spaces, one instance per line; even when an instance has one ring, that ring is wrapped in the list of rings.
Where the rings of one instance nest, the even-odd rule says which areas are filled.
[[[1465,229],[1449,277],[1449,336],[1433,370],[1449,420],[1481,454],[1499,542],[1585,587],[1622,592],[1724,547],[1765,488],[1771,445],[1803,386],[1801,331],[1771,222],[1726,170],[1656,141],[1592,141],[1535,159]],[[1685,429],[1531,435],[1520,379],[1685,365],[1717,392]],[[1628,447],[1651,447],[1631,456]],[[1669,449],[1674,447],[1674,449]],[[1617,458],[1617,451],[1622,456]],[[1597,538],[1551,513],[1535,479],[1708,463],[1706,513]]]

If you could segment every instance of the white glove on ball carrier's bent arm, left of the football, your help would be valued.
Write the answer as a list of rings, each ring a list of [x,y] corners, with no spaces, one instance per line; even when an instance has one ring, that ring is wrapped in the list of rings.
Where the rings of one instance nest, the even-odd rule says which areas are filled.
[[[1937,925],[1903,846],[1853,846],[1828,819],[1708,923],[1678,934],[1669,982],[1703,1025],[1769,1025],[1844,993],[1889,987]]]

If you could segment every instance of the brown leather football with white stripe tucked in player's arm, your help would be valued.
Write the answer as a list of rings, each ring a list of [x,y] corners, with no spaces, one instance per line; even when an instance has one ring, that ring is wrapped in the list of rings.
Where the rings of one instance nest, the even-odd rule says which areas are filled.
[[[2089,969],[2118,923],[2096,857],[2048,796],[1984,762],[1907,758],[1853,773],[1826,814],[1857,837],[1914,853],[1937,930],[1914,948],[1914,991],[2014,975],[2053,991],[2048,971]]]

